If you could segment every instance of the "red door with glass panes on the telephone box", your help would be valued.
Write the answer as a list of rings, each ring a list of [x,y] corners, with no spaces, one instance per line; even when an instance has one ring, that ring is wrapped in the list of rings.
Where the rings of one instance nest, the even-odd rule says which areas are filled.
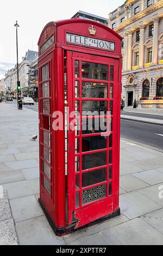
[[[118,209],[119,60],[68,52],[68,224]]]

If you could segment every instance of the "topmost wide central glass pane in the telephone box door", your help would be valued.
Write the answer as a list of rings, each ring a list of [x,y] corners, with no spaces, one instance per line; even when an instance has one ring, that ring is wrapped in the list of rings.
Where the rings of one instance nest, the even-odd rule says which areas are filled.
[[[82,62],[82,78],[108,80],[108,65]]]

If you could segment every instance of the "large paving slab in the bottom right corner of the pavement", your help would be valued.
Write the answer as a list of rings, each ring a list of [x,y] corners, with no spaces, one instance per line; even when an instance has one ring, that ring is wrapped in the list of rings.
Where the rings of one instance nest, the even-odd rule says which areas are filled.
[[[108,245],[163,245],[162,234],[140,218],[116,225],[99,234]]]

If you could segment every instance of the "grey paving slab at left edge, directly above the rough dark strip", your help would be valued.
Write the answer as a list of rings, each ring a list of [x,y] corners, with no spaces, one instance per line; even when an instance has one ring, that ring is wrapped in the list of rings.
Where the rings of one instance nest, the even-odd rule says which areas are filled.
[[[0,184],[7,184],[25,180],[21,170],[0,170]]]

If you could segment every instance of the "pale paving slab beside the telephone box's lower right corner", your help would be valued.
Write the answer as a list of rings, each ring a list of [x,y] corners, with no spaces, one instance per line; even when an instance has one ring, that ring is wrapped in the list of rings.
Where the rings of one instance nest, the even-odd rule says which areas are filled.
[[[161,206],[140,192],[132,191],[121,194],[120,196],[121,212],[130,220],[149,212],[158,210]]]

